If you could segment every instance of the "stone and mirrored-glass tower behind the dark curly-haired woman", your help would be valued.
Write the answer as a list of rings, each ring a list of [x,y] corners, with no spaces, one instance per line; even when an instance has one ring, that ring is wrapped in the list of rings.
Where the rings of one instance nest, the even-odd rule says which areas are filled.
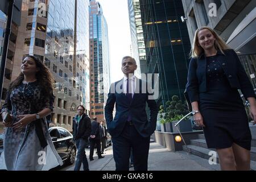
[[[4,88],[19,75],[24,55],[38,57],[55,80],[52,124],[72,131],[76,107],[90,110],[89,0],[23,0],[20,22],[12,27]]]

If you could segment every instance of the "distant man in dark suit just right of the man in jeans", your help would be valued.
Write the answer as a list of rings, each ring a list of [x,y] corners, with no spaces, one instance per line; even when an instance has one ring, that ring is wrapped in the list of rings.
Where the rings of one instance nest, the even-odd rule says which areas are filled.
[[[91,125],[92,131],[90,133],[90,161],[94,160],[93,153],[95,144],[97,147],[98,159],[104,158],[104,156],[101,156],[100,125],[97,122],[97,117],[93,117]]]

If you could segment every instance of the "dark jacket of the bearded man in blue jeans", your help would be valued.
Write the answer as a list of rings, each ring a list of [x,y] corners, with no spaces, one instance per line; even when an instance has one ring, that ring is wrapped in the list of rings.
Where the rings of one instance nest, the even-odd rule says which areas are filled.
[[[77,117],[77,115],[76,115]],[[79,122],[79,129],[77,130],[76,117],[73,118],[73,138],[75,140],[82,138],[88,140],[90,136],[90,117],[87,114],[82,114],[82,118]]]

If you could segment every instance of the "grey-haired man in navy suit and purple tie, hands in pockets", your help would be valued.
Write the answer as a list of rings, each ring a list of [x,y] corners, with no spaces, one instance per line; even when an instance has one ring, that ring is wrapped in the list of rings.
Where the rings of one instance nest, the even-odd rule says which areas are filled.
[[[122,72],[125,77],[111,85],[105,106],[105,118],[112,136],[115,167],[118,171],[129,171],[131,148],[134,170],[147,170],[150,135],[156,128],[158,106],[155,100],[148,97],[148,91],[142,92],[146,82],[134,76],[136,69],[133,57],[123,57]],[[146,103],[150,108],[150,121],[147,119]],[[113,119],[114,105],[116,113]]]

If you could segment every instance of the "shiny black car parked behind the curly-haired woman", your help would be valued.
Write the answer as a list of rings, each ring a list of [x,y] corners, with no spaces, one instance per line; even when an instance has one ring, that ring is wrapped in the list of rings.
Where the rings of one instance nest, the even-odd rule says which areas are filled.
[[[76,158],[76,146],[73,142],[73,135],[63,127],[50,127],[49,134],[57,153],[63,162],[73,164]],[[0,134],[0,154],[3,151],[3,133]]]

